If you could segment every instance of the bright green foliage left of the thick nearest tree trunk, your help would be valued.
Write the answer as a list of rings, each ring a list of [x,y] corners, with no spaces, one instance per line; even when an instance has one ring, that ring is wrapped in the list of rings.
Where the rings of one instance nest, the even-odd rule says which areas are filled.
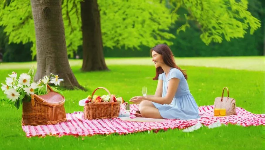
[[[0,2],[0,6],[5,5],[5,1]],[[12,0],[8,6],[0,9],[0,26],[4,26],[4,31],[9,36],[9,44],[32,42],[32,58],[36,54],[34,21],[31,13],[31,5],[28,0]]]

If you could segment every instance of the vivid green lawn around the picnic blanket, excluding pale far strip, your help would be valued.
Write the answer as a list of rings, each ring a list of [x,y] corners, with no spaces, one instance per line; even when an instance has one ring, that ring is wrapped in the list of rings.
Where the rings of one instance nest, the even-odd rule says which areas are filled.
[[[113,59],[114,60],[114,59]],[[129,59],[126,59],[130,62]],[[194,59],[195,60],[195,59]],[[206,58],[205,58],[206,60]],[[210,60],[207,60],[210,61]],[[25,66],[27,63],[19,63]],[[9,65],[13,67],[1,67]],[[18,69],[17,65],[0,64],[0,83],[5,82],[7,74],[12,71],[21,74],[31,67]],[[244,65],[242,65],[244,67]],[[147,86],[147,94],[154,94],[157,81],[153,81],[155,69],[150,65],[115,65],[109,64],[110,72],[79,71],[80,65],[72,65],[79,83],[88,91],[63,91],[66,98],[67,113],[83,111],[78,105],[80,99],[91,95],[95,88],[106,87],[111,93],[118,94],[128,101],[132,96],[141,95],[142,86]],[[192,95],[199,106],[213,105],[214,98],[222,94],[222,88],[228,87],[230,97],[236,99],[238,107],[252,113],[264,113],[264,72],[231,70],[210,67],[180,66],[187,70],[188,84]],[[9,69],[8,69],[9,68]],[[13,68],[13,69],[10,69]],[[259,70],[259,69],[257,69]],[[97,94],[106,94],[99,89]],[[0,92],[0,98],[4,94]],[[157,134],[141,132],[125,136],[108,135],[74,138],[47,136],[45,138],[27,138],[21,128],[22,108],[0,101],[0,149],[262,149],[264,128],[241,127],[235,125],[222,126],[214,129],[206,127],[191,133],[178,129]]]

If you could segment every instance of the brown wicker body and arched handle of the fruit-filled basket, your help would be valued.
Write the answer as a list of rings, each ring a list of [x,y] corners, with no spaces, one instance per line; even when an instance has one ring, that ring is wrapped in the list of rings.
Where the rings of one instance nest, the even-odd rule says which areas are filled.
[[[96,88],[91,95],[91,103],[86,103],[84,106],[84,118],[87,120],[92,120],[119,117],[120,102],[114,102],[112,97],[110,102],[93,103],[94,93],[100,88],[107,91],[109,96],[111,97],[111,93],[106,88]]]

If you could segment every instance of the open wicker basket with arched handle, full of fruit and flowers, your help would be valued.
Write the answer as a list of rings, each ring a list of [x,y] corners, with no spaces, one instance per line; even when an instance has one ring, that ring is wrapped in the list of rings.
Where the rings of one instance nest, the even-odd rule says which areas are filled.
[[[108,95],[96,96],[94,95],[96,90],[104,89],[108,92]],[[111,93],[104,87],[98,87],[94,90],[91,96],[88,96],[84,105],[84,119],[103,119],[103,118],[115,118],[119,117],[120,113],[120,103],[115,95]]]

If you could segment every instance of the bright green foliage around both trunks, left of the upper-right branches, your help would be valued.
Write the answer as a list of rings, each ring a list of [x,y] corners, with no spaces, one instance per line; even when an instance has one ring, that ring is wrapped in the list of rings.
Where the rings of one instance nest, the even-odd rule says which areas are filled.
[[[62,16],[68,54],[82,45],[80,0],[63,1]],[[103,45],[105,47],[136,47],[157,43],[172,45],[168,39],[175,38],[168,30],[171,25],[169,9],[159,1],[98,0],[101,13]],[[3,7],[4,2],[0,2]],[[0,10],[0,26],[9,35],[9,43],[32,42],[32,57],[36,54],[34,21],[30,1],[13,0]]]

